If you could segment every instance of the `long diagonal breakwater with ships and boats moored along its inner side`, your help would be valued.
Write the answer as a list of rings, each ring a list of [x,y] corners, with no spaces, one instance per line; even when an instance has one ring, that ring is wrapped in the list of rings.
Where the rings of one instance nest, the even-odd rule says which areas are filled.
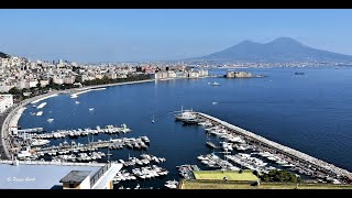
[[[301,175],[318,178],[318,180],[324,179],[326,182],[333,182],[334,184],[345,184],[352,178],[352,174],[345,169],[201,112],[185,111],[176,116],[176,120],[182,120],[187,124],[189,124],[189,120],[198,125],[206,125],[208,123],[208,128],[205,129],[207,133],[209,132],[227,140],[227,142],[222,142],[222,147],[226,151],[224,153],[227,153],[224,157],[232,161],[234,164],[241,165],[241,167],[243,166],[262,173],[268,173],[268,170],[275,169],[273,166],[265,167],[267,163],[251,156],[251,154],[253,154],[266,157],[267,160],[282,165],[282,167],[289,168]],[[211,127],[209,123],[211,123]],[[254,152],[251,154],[238,153],[235,155],[229,155],[233,150],[233,146],[232,143],[228,142],[240,142],[242,145],[237,144],[234,146],[237,150],[244,151],[251,148]],[[210,142],[207,142],[207,145],[213,148],[216,146]],[[223,165],[223,161],[213,153],[200,155],[198,156],[198,160],[210,167],[216,166],[221,167],[222,169],[231,169],[229,168],[231,166],[227,167]]]

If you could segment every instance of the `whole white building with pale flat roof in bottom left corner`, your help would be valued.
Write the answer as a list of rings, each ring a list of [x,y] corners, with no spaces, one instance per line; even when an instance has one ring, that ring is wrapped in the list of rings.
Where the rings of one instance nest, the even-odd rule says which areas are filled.
[[[0,162],[2,189],[112,189],[114,163]]]

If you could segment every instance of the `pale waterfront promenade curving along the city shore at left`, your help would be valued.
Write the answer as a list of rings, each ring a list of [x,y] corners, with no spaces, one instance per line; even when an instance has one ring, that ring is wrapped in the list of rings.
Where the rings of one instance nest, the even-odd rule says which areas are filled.
[[[11,147],[13,147],[13,142],[10,139],[10,123],[11,120],[16,116],[16,113],[24,108],[25,106],[32,102],[40,102],[47,98],[51,98],[56,95],[73,95],[76,92],[81,92],[84,90],[89,89],[98,89],[103,87],[111,87],[111,86],[121,86],[121,85],[131,85],[131,84],[142,84],[142,82],[150,82],[155,81],[155,79],[147,79],[147,80],[139,80],[139,81],[125,81],[125,82],[117,82],[117,84],[107,84],[107,85],[97,85],[97,86],[87,86],[81,88],[74,88],[74,89],[65,89],[65,90],[54,90],[50,91],[44,95],[35,96],[29,99],[21,101],[20,103],[14,105],[7,112],[0,114],[0,158],[1,160],[10,160],[11,158]]]

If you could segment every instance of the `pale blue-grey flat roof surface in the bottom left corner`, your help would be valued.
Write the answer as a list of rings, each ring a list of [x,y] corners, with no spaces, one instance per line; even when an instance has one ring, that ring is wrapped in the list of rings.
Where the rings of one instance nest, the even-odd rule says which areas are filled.
[[[105,164],[20,162],[18,166],[0,162],[1,189],[51,189],[72,170],[89,170],[90,177]]]

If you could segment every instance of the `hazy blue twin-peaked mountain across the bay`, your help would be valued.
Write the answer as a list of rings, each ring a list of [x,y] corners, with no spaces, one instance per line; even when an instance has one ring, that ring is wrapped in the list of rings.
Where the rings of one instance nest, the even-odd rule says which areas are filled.
[[[191,61],[224,62],[352,62],[352,56],[316,50],[290,37],[279,37],[270,43],[244,41],[221,52]]]

